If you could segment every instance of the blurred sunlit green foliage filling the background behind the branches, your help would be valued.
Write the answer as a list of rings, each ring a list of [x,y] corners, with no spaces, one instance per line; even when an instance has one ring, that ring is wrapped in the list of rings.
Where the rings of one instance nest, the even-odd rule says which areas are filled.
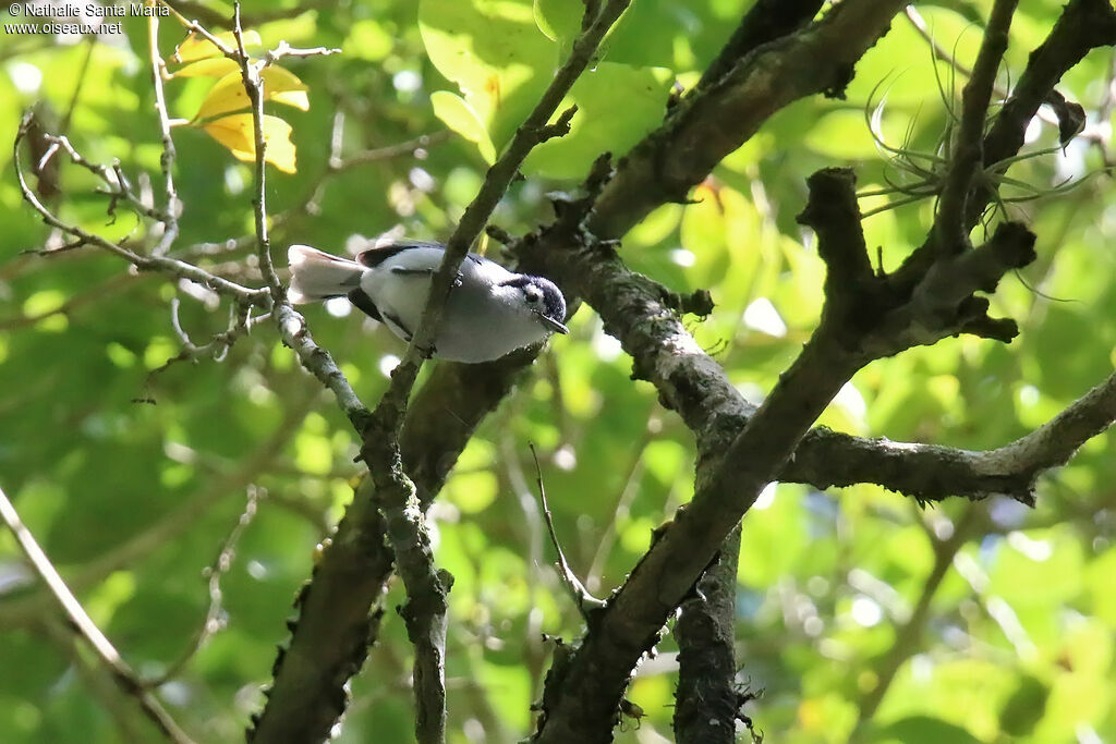
[[[423,0],[417,12],[391,0],[310,4],[300,11],[292,2],[243,3],[264,47],[286,40],[344,50],[288,60],[309,88],[310,108],[282,112],[294,126],[298,172],[270,174],[277,254],[294,242],[341,251],[354,234],[396,226],[415,238],[446,236],[579,22],[549,0]],[[579,106],[573,133],[532,154],[527,180],[501,202],[494,222],[522,232],[546,221],[548,191],[571,186],[564,178],[576,181],[599,152],[622,154],[653,129],[671,84],[695,81],[748,4],[635,2],[570,95]],[[973,21],[989,6],[921,10],[935,39],[971,64],[980,41]],[[1058,12],[1052,0],[1022,3],[1001,80],[1018,77]],[[272,20],[252,21],[260,17]],[[68,123],[85,156],[118,158],[133,182],[160,194],[146,23],[129,18],[123,28],[96,39],[0,37],[0,143],[12,142],[22,110],[41,100]],[[164,19],[164,56],[182,37]],[[1110,52],[1091,54],[1061,89],[1090,115],[1110,116],[1112,62]],[[663,206],[625,239],[633,268],[679,291],[712,291],[718,308],[693,332],[716,349],[750,399],[770,388],[820,312],[822,265],[793,221],[806,176],[847,163],[862,187],[886,185],[893,171],[864,122],[882,81],[889,144],[932,151],[946,122],[934,64],[925,39],[897,18],[858,65],[846,100],[812,98],[780,112],[695,191],[696,203]],[[949,66],[936,64],[949,85]],[[172,116],[192,116],[209,85],[169,85]],[[202,132],[175,132],[185,205],[175,251],[253,281],[250,251],[224,245],[251,230],[251,167]],[[422,135],[432,138],[413,152],[328,168],[331,152],[345,158]],[[1036,125],[1028,147],[1056,143],[1056,127]],[[196,288],[129,273],[90,248],[50,260],[23,254],[57,244],[57,236],[22,202],[9,151],[0,152],[0,484],[141,674],[157,676],[189,646],[209,605],[203,569],[243,511],[249,485],[268,493],[222,580],[227,627],[162,688],[199,741],[233,741],[261,703],[314,547],[350,497],[354,435],[266,323],[222,363],[176,364],[153,375],[179,351],[171,299],[181,298],[182,325],[195,342],[223,329],[228,308]],[[1048,189],[1110,155],[1075,142],[1011,174]],[[60,184],[51,203],[65,219],[113,240],[143,234],[123,206],[106,214],[108,200],[94,192],[88,172],[64,166]],[[1103,379],[1116,360],[1109,194],[1100,176],[1011,207],[1039,235],[1040,255],[993,299],[998,315],[1020,322],[1012,345],[949,339],[874,363],[821,423],[988,448]],[[865,209],[881,203],[866,200]],[[865,222],[885,267],[922,241],[931,214],[922,202]],[[307,316],[364,400],[374,402],[401,352],[396,339],[356,316],[338,319],[321,308]],[[453,742],[520,735],[548,665],[541,634],[570,638],[579,628],[549,566],[528,442],[545,455],[567,554],[597,595],[623,581],[651,530],[693,492],[689,433],[650,385],[629,380],[629,360],[589,308],[570,325],[573,334],[554,339],[483,425],[432,510],[437,561],[456,578],[448,661]],[[1041,481],[1032,511],[1001,499],[921,511],[875,486],[772,486],[744,520],[740,561],[741,678],[766,690],[749,713],[769,741],[846,741],[894,659],[872,741],[1116,737],[1113,483],[1112,435],[1103,435]],[[927,592],[940,562],[949,570]],[[396,586],[388,606],[398,601]],[[4,742],[152,736],[56,616],[11,535],[0,533]],[[670,738],[672,644],[664,640],[658,661],[637,674],[629,697],[647,717],[638,728],[626,725],[619,741]],[[336,741],[408,741],[408,655],[402,624],[389,613]]]

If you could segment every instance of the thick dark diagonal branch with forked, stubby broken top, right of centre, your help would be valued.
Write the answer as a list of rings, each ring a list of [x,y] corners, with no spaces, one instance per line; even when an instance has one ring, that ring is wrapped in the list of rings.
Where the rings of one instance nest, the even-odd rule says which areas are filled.
[[[610,741],[610,722],[631,669],[656,644],[663,622],[712,558],[712,547],[785,467],[809,424],[840,386],[874,358],[914,344],[934,342],[983,322],[988,302],[972,292],[994,290],[1006,271],[1035,258],[1033,235],[1009,223],[980,249],[932,263],[910,296],[898,294],[887,286],[886,277],[870,271],[850,173],[821,171],[809,185],[809,202],[800,220],[818,233],[818,252],[827,264],[821,322],[801,355],[728,444],[724,458],[719,456],[725,451],[722,446],[703,448],[693,501],[656,532],[652,548],[594,618],[581,645],[560,664],[556,661],[543,693],[537,741]],[[568,220],[560,219],[558,225]],[[573,242],[568,234],[566,240]],[[657,354],[664,360],[672,354],[681,356],[679,347],[663,338],[663,331],[676,332],[670,328],[676,321],[663,311],[662,293],[657,298],[652,294],[646,280],[617,286],[610,278],[607,290],[594,287],[604,274],[599,264],[610,263],[617,272],[626,270],[615,257],[602,259],[603,251],[591,236],[584,240],[589,244],[571,251],[576,258],[568,271],[587,290],[584,293],[597,306],[606,329],[620,326],[619,332],[609,332],[617,335],[633,356],[641,351]],[[617,294],[623,296],[623,303],[631,303],[620,309],[619,317],[612,313]],[[924,308],[933,311],[920,311]],[[654,335],[660,336],[657,348],[647,344],[647,336]],[[636,358],[637,371],[646,375],[646,367],[638,364],[644,357]],[[657,365],[651,374],[655,371]],[[668,404],[679,388],[660,389]],[[695,395],[703,397],[704,393]],[[704,423],[701,416],[694,421]]]

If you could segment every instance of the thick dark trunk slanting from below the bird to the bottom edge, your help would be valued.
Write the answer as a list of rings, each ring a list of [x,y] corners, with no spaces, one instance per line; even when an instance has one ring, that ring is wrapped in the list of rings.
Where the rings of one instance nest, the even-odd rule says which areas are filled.
[[[423,509],[442,487],[479,423],[508,394],[533,355],[519,351],[483,365],[439,365],[415,395],[400,447]],[[272,669],[268,703],[253,716],[260,742],[314,742],[348,703],[346,686],[375,642],[383,595],[394,569],[372,479],[360,482],[337,532],[296,601],[291,639]]]

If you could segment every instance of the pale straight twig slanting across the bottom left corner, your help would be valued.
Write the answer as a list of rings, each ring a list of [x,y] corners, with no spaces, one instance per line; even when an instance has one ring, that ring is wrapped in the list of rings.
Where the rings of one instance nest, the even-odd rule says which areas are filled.
[[[93,650],[100,657],[102,663],[112,670],[113,677],[121,688],[136,698],[143,712],[158,726],[160,732],[169,741],[175,742],[175,744],[192,744],[192,740],[179,727],[179,724],[166,712],[163,704],[158,702],[158,698],[142,687],[136,673],[121,657],[113,644],[105,637],[105,634],[100,631],[100,628],[97,627],[85,611],[81,603],[77,601],[77,598],[66,587],[66,582],[62,581],[58,571],[55,570],[47,554],[42,552],[39,543],[35,540],[35,535],[31,534],[31,531],[20,520],[19,513],[11,501],[8,500],[3,489],[0,489],[0,516],[3,518],[8,528],[16,535],[19,547],[31,562],[36,573],[39,574],[42,582],[50,589],[50,593],[55,596],[62,610],[66,611],[77,632],[93,647]]]

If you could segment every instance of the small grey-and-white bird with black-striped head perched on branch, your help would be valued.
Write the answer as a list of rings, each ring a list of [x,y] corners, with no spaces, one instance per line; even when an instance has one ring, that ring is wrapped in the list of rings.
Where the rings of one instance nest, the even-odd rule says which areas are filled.
[[[354,261],[291,245],[287,297],[296,305],[347,297],[410,342],[444,253],[437,243],[393,241],[358,253]],[[565,320],[566,298],[554,282],[512,273],[469,253],[439,321],[433,355],[452,361],[491,361],[551,332],[568,334]]]

